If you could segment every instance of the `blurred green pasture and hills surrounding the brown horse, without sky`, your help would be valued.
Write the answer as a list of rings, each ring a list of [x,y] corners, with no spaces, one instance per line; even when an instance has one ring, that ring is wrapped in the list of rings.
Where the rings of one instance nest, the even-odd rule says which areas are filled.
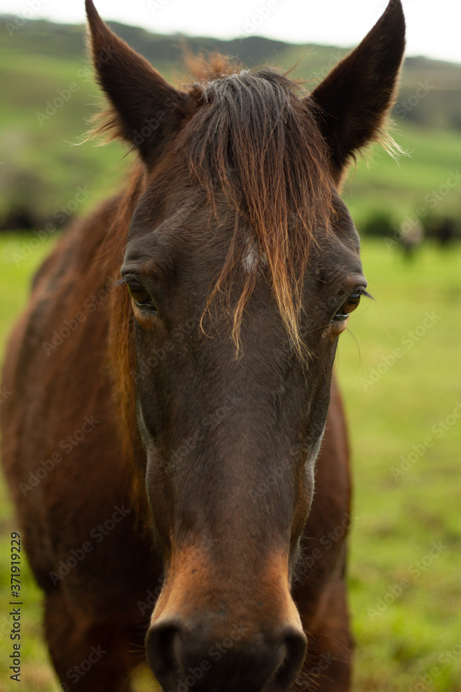
[[[164,44],[141,30],[118,28],[122,35],[132,35],[131,43],[140,50],[149,46],[151,59],[161,54],[156,66],[169,78],[179,72],[179,66],[171,67],[178,41]],[[94,111],[89,104],[97,100],[95,86],[85,75],[79,76],[85,66],[82,30],[28,22],[12,38],[8,43],[3,34],[0,41],[0,218],[8,228],[8,219],[14,221],[17,212],[26,208],[32,227],[38,230],[53,219],[53,212],[73,200],[79,186],[87,185],[91,194],[76,215],[88,211],[116,188],[130,157],[124,159],[124,149],[117,145],[95,150],[89,143],[69,144],[78,141],[77,134],[85,127],[82,118]],[[248,54],[251,48],[256,62],[270,57],[285,67],[301,56],[301,77],[320,75],[341,55],[333,47],[303,48],[301,53],[299,47],[271,43],[261,39],[251,46],[234,47]],[[214,44],[226,49],[222,42],[205,43],[205,47]],[[176,46],[176,53],[168,53],[171,46]],[[231,46],[230,52],[237,51]],[[245,60],[245,55],[241,58]],[[440,218],[459,215],[460,183],[449,194],[440,194],[435,206],[426,197],[432,199],[433,190],[440,190],[461,162],[460,75],[460,66],[424,59],[407,63],[402,99],[413,95],[420,81],[429,80],[437,87],[405,118],[395,118],[395,136],[411,156],[401,158],[397,165],[378,152],[368,170],[359,162],[352,172],[344,197],[359,229],[366,228],[373,217],[386,215],[392,234],[392,227],[408,222],[406,216],[417,208]],[[66,89],[72,81],[78,91],[40,124],[37,112],[43,112],[57,89]],[[2,350],[12,322],[26,304],[30,277],[55,242],[52,236],[26,256],[24,248],[32,238],[17,233],[0,237]],[[350,610],[357,639],[353,689],[461,692],[461,419],[447,424],[440,437],[434,431],[461,401],[461,248],[455,245],[442,251],[426,244],[413,262],[404,262],[391,235],[364,237],[363,262],[376,300],[363,300],[350,329],[341,336],[337,356],[355,479],[349,566]],[[429,329],[423,326],[426,311],[433,314]],[[395,348],[402,349],[402,356],[386,365],[386,359],[392,363]],[[377,381],[370,384],[371,376]],[[428,437],[433,445],[425,448],[423,441]],[[423,446],[424,453],[408,471],[393,477],[391,469],[399,467],[402,457],[408,459],[413,445]],[[27,570],[21,580],[25,603],[21,683],[13,685],[9,680],[6,604],[10,532],[15,529],[2,484],[0,691],[55,692],[59,686],[41,640],[41,595]],[[433,543],[441,549],[436,558],[429,557]],[[415,567],[421,561],[422,569]],[[408,586],[399,594],[395,585],[402,579],[408,579]],[[148,689],[145,685],[146,680],[140,681],[140,689]]]

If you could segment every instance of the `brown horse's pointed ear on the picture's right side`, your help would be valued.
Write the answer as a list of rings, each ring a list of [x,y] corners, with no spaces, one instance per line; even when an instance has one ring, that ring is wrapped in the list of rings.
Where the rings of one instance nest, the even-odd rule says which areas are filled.
[[[378,140],[395,92],[405,48],[400,0],[391,0],[364,40],[312,92],[337,181],[354,152]]]

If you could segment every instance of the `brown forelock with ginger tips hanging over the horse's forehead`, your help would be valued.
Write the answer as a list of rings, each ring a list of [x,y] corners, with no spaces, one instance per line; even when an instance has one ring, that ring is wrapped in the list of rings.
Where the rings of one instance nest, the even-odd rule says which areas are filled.
[[[220,193],[236,210],[231,250],[210,302],[238,267],[254,266],[234,308],[232,334],[238,345],[245,304],[264,262],[285,327],[303,354],[303,277],[317,230],[328,229],[332,214],[333,185],[314,106],[297,82],[270,68],[221,73],[194,89],[200,107],[178,147],[215,215]],[[251,248],[257,248],[250,264],[243,260],[249,233]]]

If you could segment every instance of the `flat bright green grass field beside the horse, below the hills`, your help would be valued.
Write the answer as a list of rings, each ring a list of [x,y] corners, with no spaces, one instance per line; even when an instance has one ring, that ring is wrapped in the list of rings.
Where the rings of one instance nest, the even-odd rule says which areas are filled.
[[[52,241],[17,265],[21,242],[0,239],[1,343]],[[355,477],[353,690],[461,692],[461,248],[426,246],[408,264],[397,249],[368,241],[363,261],[376,300],[363,300],[337,357]],[[55,692],[41,639],[41,597],[27,570],[21,684],[8,680],[5,604],[17,525],[3,486],[0,498],[0,691]],[[149,686],[144,681],[140,689]]]

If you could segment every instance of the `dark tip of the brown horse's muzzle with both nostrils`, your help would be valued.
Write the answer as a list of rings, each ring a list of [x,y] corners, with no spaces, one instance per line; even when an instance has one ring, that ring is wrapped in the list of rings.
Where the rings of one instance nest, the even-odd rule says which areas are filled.
[[[164,618],[147,632],[149,665],[164,692],[286,692],[299,675],[307,641],[300,626],[270,632],[218,619]]]

